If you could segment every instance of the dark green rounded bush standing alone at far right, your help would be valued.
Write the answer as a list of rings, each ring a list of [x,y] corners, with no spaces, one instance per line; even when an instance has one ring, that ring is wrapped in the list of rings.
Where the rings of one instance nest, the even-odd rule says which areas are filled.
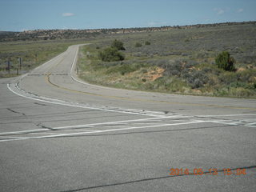
[[[223,51],[215,58],[218,68],[222,70],[234,71],[234,58],[230,57],[229,52]]]

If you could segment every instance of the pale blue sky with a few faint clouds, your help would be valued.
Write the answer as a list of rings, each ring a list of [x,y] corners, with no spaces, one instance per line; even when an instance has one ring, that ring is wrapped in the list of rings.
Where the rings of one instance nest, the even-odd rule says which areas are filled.
[[[256,0],[0,0],[0,30],[183,26],[256,20]]]

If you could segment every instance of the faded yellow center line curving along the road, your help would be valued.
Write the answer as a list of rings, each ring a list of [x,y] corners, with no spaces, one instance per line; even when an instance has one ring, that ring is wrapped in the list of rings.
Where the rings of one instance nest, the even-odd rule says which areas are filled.
[[[54,82],[50,81],[50,74],[47,74],[45,77],[45,80],[47,83],[49,83],[51,86],[58,87],[59,89],[62,90],[68,90],[72,91],[75,93],[79,94],[87,94],[87,95],[94,95],[102,98],[115,98],[115,99],[120,99],[120,100],[128,100],[128,101],[136,101],[136,102],[155,102],[155,103],[166,103],[166,104],[174,104],[174,105],[184,105],[184,106],[207,106],[207,107],[217,107],[217,108],[230,108],[230,109],[238,109],[238,110],[256,110],[253,107],[240,107],[240,106],[219,106],[219,105],[207,105],[207,104],[194,104],[194,103],[186,103],[186,102],[166,102],[166,101],[155,101],[155,100],[150,100],[150,99],[142,99],[142,98],[125,98],[125,97],[118,97],[118,96],[110,96],[110,95],[103,95],[103,94],[95,94],[95,93],[90,93],[90,92],[85,92],[82,90],[72,90],[70,88],[66,88],[63,86],[58,86]]]

